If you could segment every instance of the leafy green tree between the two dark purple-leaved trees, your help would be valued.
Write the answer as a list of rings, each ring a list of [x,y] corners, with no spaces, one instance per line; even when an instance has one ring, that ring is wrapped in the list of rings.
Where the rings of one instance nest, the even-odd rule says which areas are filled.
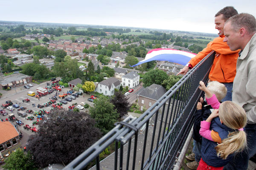
[[[103,135],[113,129],[118,119],[118,113],[114,107],[106,96],[102,96],[94,99],[94,107],[89,108],[90,115],[96,120],[96,127],[102,131]]]

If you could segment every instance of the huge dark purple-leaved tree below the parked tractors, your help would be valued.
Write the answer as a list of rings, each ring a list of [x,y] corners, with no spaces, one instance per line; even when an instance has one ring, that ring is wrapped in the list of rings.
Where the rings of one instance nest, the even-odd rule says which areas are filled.
[[[30,137],[27,147],[40,167],[68,164],[101,137],[95,120],[83,111],[54,109],[48,118],[39,122],[38,133]]]

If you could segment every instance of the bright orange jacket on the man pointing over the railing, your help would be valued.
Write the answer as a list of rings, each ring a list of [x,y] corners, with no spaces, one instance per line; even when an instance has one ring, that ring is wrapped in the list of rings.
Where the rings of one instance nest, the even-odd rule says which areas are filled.
[[[195,67],[195,65],[204,59],[212,50],[214,50],[216,54],[220,54],[218,57],[215,57],[213,61],[209,79],[221,83],[233,82],[236,76],[236,60],[240,51],[231,51],[227,43],[223,42],[224,37],[225,36],[220,36],[209,42],[206,48],[189,61],[189,63]]]

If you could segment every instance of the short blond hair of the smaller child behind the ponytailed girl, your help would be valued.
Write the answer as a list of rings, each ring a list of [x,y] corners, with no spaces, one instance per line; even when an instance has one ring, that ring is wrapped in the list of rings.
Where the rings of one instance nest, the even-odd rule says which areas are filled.
[[[218,101],[220,102],[227,94],[227,88],[224,84],[217,82],[217,81],[211,81],[208,83],[207,88],[212,94],[215,94]]]

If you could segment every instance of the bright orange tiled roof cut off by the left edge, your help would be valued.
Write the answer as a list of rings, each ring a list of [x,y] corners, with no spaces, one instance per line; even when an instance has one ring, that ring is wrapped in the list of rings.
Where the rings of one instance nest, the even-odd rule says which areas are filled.
[[[0,144],[6,142],[16,136],[19,136],[19,133],[12,125],[11,122],[1,122],[0,121]]]

